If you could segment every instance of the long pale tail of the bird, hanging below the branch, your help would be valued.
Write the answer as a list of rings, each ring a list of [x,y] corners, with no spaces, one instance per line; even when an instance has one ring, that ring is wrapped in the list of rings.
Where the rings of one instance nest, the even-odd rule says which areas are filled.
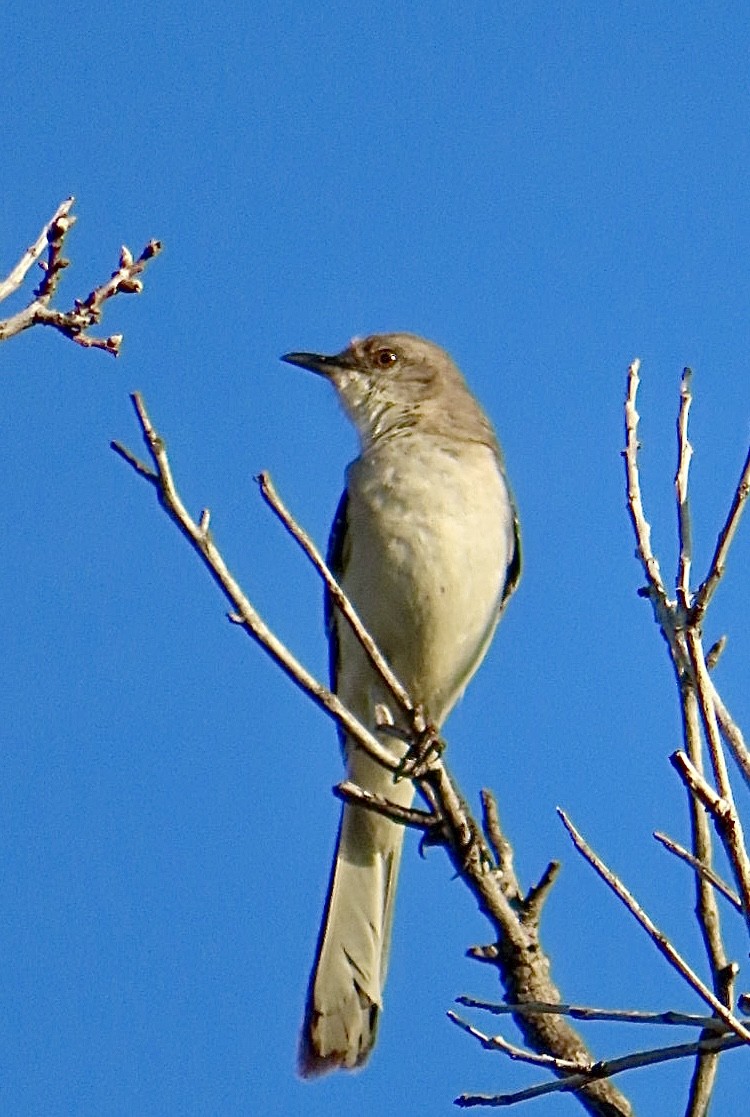
[[[408,784],[397,798],[410,800]],[[402,844],[404,827],[344,805],[300,1040],[305,1078],[361,1067],[372,1050]]]

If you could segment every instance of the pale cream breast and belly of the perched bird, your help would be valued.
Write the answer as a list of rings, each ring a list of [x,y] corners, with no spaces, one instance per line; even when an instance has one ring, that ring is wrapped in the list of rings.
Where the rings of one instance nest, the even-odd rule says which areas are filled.
[[[412,437],[352,462],[348,487],[344,590],[412,697],[442,722],[492,636],[513,554],[497,460],[484,445]]]

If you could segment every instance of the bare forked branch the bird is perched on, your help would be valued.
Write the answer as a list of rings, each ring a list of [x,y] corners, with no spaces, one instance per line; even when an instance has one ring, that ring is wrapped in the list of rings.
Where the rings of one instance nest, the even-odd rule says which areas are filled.
[[[329,688],[298,662],[258,615],[213,543],[209,531],[208,510],[205,509],[197,521],[188,513],[174,484],[164,441],[154,429],[143,399],[136,394],[132,400],[150,461],[141,461],[120,442],[113,442],[113,449],[137,476],[149,483],[161,506],[199,554],[230,602],[230,619],[240,626],[296,686],[362,748],[387,768],[391,771],[398,768],[399,762],[395,760],[392,753],[381,745],[368,727],[353,717]],[[369,637],[361,630],[351,604],[335,585],[322,557],[286,509],[283,509],[281,500],[273,491],[269,478],[265,475],[262,485],[264,498],[287,524],[332,592],[341,594],[336,600],[341,601],[342,614],[348,618],[358,639],[377,666],[379,652],[374,648],[369,648]],[[381,674],[387,678],[387,665],[385,666],[386,670]],[[389,685],[391,691],[398,695],[398,680],[391,680]],[[414,710],[414,732],[418,736],[420,732],[418,708],[414,706],[408,695],[401,695],[399,700],[402,708]],[[513,1004],[518,1004],[521,1010],[526,1002],[558,1002],[560,994],[551,978],[550,960],[543,953],[539,939],[543,900],[551,887],[556,867],[549,866],[539,885],[524,895],[513,871],[512,858],[509,855],[510,844],[501,832],[496,808],[490,794],[485,792],[485,818],[488,821],[492,847],[502,850],[501,863],[493,857],[482,830],[439,758],[434,757],[426,770],[414,776],[414,782],[427,804],[427,811],[409,811],[408,815],[400,818],[399,821],[426,831],[429,844],[443,846],[456,872],[471,889],[477,906],[486,915],[493,928],[495,942],[487,947],[473,948],[471,955],[481,956],[483,961],[492,962],[497,967],[506,999],[512,1002],[511,1011]],[[353,785],[343,785],[339,794],[357,800],[365,809],[389,814],[391,818],[396,817],[393,804],[377,796],[374,801],[365,801],[361,789]],[[595,1060],[580,1035],[563,1015],[532,1016],[519,1011],[514,1020],[529,1048],[538,1056],[542,1056],[541,1061],[545,1066],[551,1066],[556,1073],[567,1075],[571,1067],[594,1065]],[[629,1117],[632,1114],[627,1099],[606,1080],[581,1082],[577,1087],[577,1096],[587,1113],[595,1117]]]

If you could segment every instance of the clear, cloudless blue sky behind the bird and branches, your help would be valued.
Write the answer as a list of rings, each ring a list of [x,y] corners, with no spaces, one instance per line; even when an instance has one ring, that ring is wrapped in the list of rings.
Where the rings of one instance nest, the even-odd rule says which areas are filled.
[[[79,222],[60,303],[103,279],[123,240],[165,244],[144,295],[107,311],[106,332],[125,334],[117,362],[38,330],[2,347],[9,1115],[448,1114],[462,1090],[541,1077],[445,1020],[456,995],[500,991],[464,957],[486,938],[482,918],[445,858],[421,861],[410,840],[372,1062],[297,1080],[335,733],[227,623],[108,449],[137,448],[127,392],[142,390],[186,502],[210,506],[248,593],[322,676],[320,586],[253,477],[269,469],[324,543],[354,438],[325,385],[277,357],[380,330],[454,354],[521,509],[524,577],[448,723],[450,765],[473,803],[496,791],[526,882],[563,861],[543,941],[566,999],[699,1009],[554,806],[704,973],[692,881],[651,838],[686,840],[686,810],[619,451],[639,355],[643,480],[668,572],[674,416],[692,365],[701,573],[750,431],[747,12],[267,7],[4,9],[0,273],[69,193]],[[730,636],[716,680],[746,729],[749,541],[744,525],[706,624],[709,640]],[[634,1042],[604,1025],[587,1035],[602,1057]],[[624,1085],[639,1114],[661,1115],[682,1111],[686,1080],[673,1066]],[[747,1054],[729,1054],[716,1115],[749,1088]]]

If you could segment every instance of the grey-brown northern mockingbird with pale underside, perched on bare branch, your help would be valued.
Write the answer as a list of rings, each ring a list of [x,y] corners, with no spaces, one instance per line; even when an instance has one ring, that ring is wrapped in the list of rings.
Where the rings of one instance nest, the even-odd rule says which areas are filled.
[[[360,438],[329,564],[396,676],[439,727],[478,667],[520,573],[519,525],[490,420],[448,354],[414,334],[354,338],[335,356],[287,353],[335,388]],[[332,687],[370,728],[402,717],[326,601]],[[377,716],[378,712],[378,716]],[[404,755],[396,736],[385,737]],[[409,805],[414,785],[342,742],[348,776]],[[404,828],[341,815],[300,1071],[360,1067],[376,1040]]]

